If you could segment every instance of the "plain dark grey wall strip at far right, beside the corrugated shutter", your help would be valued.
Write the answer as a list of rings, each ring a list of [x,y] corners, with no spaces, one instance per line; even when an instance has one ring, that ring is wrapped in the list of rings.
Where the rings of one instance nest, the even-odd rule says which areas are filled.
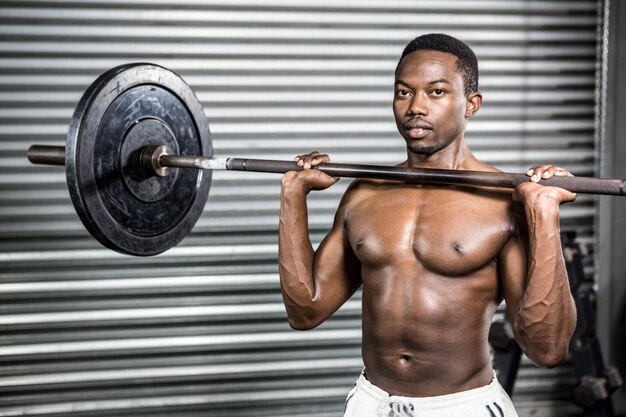
[[[608,4],[607,4],[608,3]],[[608,14],[608,19],[606,18]],[[605,111],[600,120],[600,144],[603,160],[601,176],[626,178],[626,3],[605,2],[604,35],[607,48],[606,76],[602,106]],[[617,200],[617,201],[615,201]],[[626,375],[626,205],[602,197],[599,203],[598,232],[598,335],[602,342],[607,364],[617,366]],[[626,414],[626,386],[613,394],[616,413]]]

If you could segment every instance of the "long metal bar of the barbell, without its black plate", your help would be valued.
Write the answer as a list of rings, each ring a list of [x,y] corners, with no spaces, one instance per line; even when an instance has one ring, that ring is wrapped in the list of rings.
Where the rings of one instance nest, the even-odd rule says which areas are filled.
[[[33,145],[28,150],[28,159],[35,164],[65,165],[65,148],[62,146]],[[288,171],[301,171],[302,167],[295,162],[276,161],[265,159],[246,158],[222,158],[224,161],[221,169],[232,171],[270,172],[285,173]],[[164,166],[188,168],[193,161],[193,167],[199,169],[219,169],[217,164],[211,163],[215,158],[199,156],[176,156],[168,155],[167,164]],[[177,163],[180,162],[180,163]],[[199,162],[206,162],[200,164]],[[211,167],[211,168],[206,168]],[[398,166],[375,166],[358,164],[326,163],[314,167],[334,177],[351,178],[378,178],[407,182],[422,182],[435,184],[465,184],[486,187],[515,188],[517,185],[527,182],[525,174],[512,174],[506,172],[484,171],[460,171],[440,170],[427,168],[409,168]],[[625,195],[626,180],[593,177],[552,177],[541,180],[542,185],[560,187],[574,193],[581,194],[604,194]]]

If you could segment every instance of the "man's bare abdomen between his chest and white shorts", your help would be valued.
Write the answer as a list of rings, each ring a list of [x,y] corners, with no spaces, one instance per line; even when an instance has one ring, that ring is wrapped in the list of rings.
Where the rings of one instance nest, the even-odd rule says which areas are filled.
[[[493,370],[487,336],[497,302],[480,283],[484,278],[364,276],[367,378],[409,397],[488,384]]]

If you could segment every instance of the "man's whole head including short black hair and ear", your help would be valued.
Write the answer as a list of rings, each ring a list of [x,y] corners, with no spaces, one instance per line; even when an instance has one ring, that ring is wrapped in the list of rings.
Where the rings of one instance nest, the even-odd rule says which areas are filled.
[[[429,157],[463,146],[480,108],[474,53],[447,35],[424,35],[405,48],[395,73],[393,112],[409,155]]]

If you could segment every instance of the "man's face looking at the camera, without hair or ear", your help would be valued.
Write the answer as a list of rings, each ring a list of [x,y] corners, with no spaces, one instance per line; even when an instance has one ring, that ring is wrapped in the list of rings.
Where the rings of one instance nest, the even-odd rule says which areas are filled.
[[[463,137],[468,117],[463,90],[454,55],[416,51],[404,57],[396,73],[393,113],[410,152],[432,155]]]

